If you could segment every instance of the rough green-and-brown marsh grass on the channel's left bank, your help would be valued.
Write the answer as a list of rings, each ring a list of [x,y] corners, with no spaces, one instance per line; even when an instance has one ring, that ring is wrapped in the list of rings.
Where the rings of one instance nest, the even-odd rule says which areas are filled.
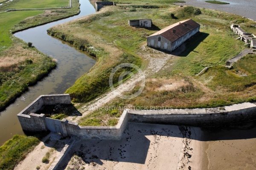
[[[56,66],[52,58],[14,40],[16,50],[4,51],[0,62],[0,109]]]

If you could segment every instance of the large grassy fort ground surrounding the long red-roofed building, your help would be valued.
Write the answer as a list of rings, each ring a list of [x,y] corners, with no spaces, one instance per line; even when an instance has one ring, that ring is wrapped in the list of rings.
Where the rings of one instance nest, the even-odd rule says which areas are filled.
[[[128,2],[120,0],[116,6],[104,7],[96,14],[49,30],[50,34],[98,58],[96,65],[66,91],[73,96],[74,102],[87,102],[107,91],[110,73],[108,69],[119,63],[141,63],[141,67],[146,69],[151,58],[162,59],[168,55],[156,54],[145,47],[147,37],[156,31],[191,18],[201,25],[200,33],[185,42],[184,51],[178,56],[172,56],[160,71],[147,77],[145,89],[140,96],[127,100],[115,99],[106,105],[114,109],[94,111],[81,119],[79,125],[110,125],[108,121],[115,121],[122,113],[122,107],[121,110],[116,109],[119,106],[139,106],[142,109],[203,108],[251,101],[255,98],[254,73],[244,77],[245,81],[243,78],[235,79],[242,85],[240,90],[230,87],[227,90],[224,82],[221,84],[221,80],[224,79],[224,74],[231,70],[218,66],[225,65],[227,59],[236,56],[245,48],[243,42],[236,40],[237,36],[230,29],[231,23],[239,23],[245,31],[255,33],[255,22],[226,12],[190,6],[180,8],[168,3],[163,5],[159,1],[125,3]],[[152,19],[152,28],[128,26],[128,20],[140,18]],[[183,47],[177,51],[181,49]],[[128,57],[122,59],[124,54]],[[212,67],[208,70],[209,73],[212,71],[212,75],[205,76],[205,80],[204,74],[196,76],[209,66]],[[214,73],[214,69],[221,71]],[[205,73],[207,74],[208,72]],[[215,74],[219,74],[220,77],[210,79]],[[225,81],[229,82],[233,77],[227,76],[226,79]],[[239,83],[233,86],[240,85]],[[136,86],[134,91],[139,88]]]

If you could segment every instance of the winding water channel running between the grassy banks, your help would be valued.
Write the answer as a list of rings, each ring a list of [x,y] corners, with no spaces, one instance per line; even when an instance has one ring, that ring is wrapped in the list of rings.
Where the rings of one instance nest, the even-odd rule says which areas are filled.
[[[11,139],[15,134],[23,134],[17,114],[42,94],[62,94],[72,86],[76,79],[90,70],[96,60],[87,54],[77,51],[58,39],[47,34],[47,29],[60,23],[74,20],[88,14],[95,13],[95,8],[89,0],[80,0],[80,14],[43,26],[17,32],[15,37],[33,45],[44,54],[57,59],[57,68],[28,91],[18,97],[6,110],[0,112],[0,145]]]

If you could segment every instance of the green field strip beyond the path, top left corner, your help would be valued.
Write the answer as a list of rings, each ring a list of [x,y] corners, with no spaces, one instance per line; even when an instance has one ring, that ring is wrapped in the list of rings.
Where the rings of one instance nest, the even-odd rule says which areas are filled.
[[[69,6],[69,0],[13,0],[0,6],[0,11],[7,8],[29,9],[29,8],[57,8]]]

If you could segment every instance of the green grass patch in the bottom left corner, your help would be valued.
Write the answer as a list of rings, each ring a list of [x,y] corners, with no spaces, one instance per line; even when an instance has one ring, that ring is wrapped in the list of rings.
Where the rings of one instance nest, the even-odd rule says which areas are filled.
[[[32,136],[13,136],[0,147],[0,170],[13,170],[39,142]]]

